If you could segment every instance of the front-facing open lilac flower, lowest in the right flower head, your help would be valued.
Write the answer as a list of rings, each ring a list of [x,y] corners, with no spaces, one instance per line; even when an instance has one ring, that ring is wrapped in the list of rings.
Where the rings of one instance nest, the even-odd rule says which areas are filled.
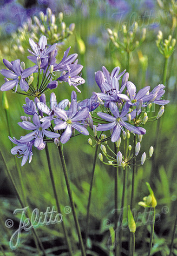
[[[145,134],[145,129],[141,127],[135,127],[131,124],[128,124],[127,121],[127,114],[129,112],[129,107],[131,106],[130,102],[126,102],[124,107],[121,110],[121,113],[119,113],[118,107],[114,102],[109,103],[109,109],[111,113],[114,115],[109,115],[106,113],[98,112],[97,115],[109,123],[101,124],[97,127],[97,131],[107,131],[112,129],[112,134],[111,134],[111,141],[115,142],[118,140],[120,137],[120,132],[121,130],[124,132],[125,127],[127,130],[131,131],[132,133],[135,134]],[[132,111],[130,113],[131,115],[131,120],[135,118],[136,112]]]

